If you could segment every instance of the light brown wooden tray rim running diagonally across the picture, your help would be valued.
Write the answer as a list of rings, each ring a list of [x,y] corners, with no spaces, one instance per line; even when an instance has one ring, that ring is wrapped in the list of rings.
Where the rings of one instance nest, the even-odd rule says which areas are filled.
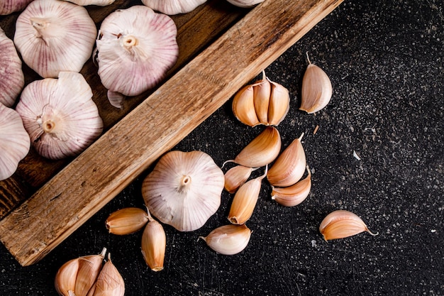
[[[21,265],[39,261],[341,2],[266,0],[248,11],[9,212],[2,243]]]

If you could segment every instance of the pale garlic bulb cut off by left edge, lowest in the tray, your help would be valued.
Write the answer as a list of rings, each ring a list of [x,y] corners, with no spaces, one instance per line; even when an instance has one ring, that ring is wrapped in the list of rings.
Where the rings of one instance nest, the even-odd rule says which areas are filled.
[[[20,115],[0,104],[0,180],[13,175],[29,148],[30,139]]]

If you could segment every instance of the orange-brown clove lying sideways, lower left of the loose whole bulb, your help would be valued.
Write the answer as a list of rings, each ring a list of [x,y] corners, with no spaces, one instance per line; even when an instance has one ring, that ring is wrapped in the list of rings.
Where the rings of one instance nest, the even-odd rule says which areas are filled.
[[[110,234],[125,235],[139,231],[148,223],[148,213],[137,207],[126,207],[113,212],[106,219]]]

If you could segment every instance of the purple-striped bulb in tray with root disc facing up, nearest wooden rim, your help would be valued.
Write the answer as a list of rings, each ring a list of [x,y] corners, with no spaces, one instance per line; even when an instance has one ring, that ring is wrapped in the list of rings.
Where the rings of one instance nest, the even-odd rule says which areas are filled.
[[[34,148],[50,159],[74,156],[87,148],[103,129],[92,92],[77,72],[60,72],[28,84],[16,111]]]

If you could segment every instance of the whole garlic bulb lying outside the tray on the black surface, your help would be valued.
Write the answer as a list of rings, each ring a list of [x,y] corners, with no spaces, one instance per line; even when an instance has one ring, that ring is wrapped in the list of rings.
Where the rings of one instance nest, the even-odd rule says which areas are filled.
[[[152,216],[179,231],[194,231],[216,213],[225,178],[201,151],[171,151],[143,180],[142,195]]]

